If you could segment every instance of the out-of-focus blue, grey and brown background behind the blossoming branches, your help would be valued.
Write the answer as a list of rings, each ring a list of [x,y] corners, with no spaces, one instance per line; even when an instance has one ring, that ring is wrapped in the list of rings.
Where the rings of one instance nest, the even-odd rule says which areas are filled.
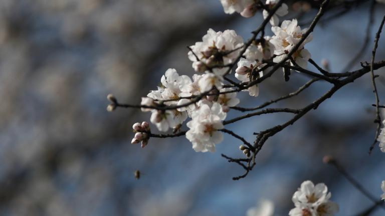
[[[340,72],[357,52],[350,70],[370,61],[385,6],[375,6],[369,43],[360,51],[369,1],[332,1],[336,6],[306,44],[316,62],[327,59],[331,71]],[[306,27],[319,1],[288,4],[286,18],[298,17]],[[108,93],[140,103],[167,68],[193,75],[186,46],[208,28],[235,29],[247,39],[261,21],[261,13],[248,19],[225,14],[220,0],[0,0],[0,215],[245,215],[261,198],[274,202],[274,215],[287,215],[292,194],[307,179],[329,186],[340,205],[337,215],[370,206],[322,163],[323,155],[333,155],[379,199],[385,154],[378,146],[367,153],[376,126],[368,74],[269,139],[254,170],[239,181],[232,177],[244,170],[221,157],[242,156],[232,136],[225,134],[215,153],[195,152],[185,137],[151,138],[141,149],[130,144],[131,126],[150,113],[106,111]],[[376,60],[385,58],[384,37]],[[260,96],[239,93],[240,106],[295,91],[308,79],[294,72],[285,82],[277,72],[260,84]],[[385,78],[377,83],[383,104]],[[270,107],[300,108],[328,88],[317,82]],[[232,110],[228,118],[239,114]],[[253,141],[253,132],[290,117],[263,115],[227,128]]]

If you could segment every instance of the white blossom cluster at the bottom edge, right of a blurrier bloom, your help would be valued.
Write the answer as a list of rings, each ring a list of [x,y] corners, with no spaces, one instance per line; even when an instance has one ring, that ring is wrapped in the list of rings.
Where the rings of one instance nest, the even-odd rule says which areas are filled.
[[[338,205],[329,200],[331,193],[327,192],[324,183],[314,183],[310,180],[302,182],[301,187],[293,195],[295,208],[290,216],[331,216],[338,212]]]

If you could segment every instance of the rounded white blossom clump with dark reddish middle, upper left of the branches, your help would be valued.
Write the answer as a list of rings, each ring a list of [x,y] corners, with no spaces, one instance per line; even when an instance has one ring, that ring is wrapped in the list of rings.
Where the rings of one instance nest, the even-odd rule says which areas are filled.
[[[241,46],[243,46],[243,38],[237,35],[234,30],[216,32],[210,28],[207,34],[203,36],[203,41],[190,46],[192,51],[188,52],[188,58],[193,61],[193,68],[202,72],[206,69],[202,69],[202,65],[197,65],[198,60],[194,54],[209,66],[228,64],[237,58]],[[216,69],[214,68],[213,71],[215,72]]]

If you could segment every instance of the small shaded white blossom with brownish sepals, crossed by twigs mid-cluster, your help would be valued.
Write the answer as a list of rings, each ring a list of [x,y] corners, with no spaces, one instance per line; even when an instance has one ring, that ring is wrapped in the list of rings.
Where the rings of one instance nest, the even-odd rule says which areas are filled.
[[[250,75],[252,75],[252,71],[254,67],[257,67],[259,69],[259,66],[256,66],[257,61],[251,61],[245,58],[241,58],[238,61],[238,67],[236,69],[235,77],[240,81],[250,81]],[[262,65],[260,65],[262,66]],[[256,74],[254,78],[262,77],[263,71],[260,71],[258,74]],[[249,91],[249,94],[251,96],[258,96],[259,95],[259,88],[258,85],[255,84],[248,89],[244,89],[243,91]]]

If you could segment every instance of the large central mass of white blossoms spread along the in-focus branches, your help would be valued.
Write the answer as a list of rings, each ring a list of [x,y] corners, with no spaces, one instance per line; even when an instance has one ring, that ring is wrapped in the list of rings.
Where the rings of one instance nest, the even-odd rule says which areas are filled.
[[[246,14],[252,8],[264,6],[265,18],[268,10],[277,3],[276,0],[267,0],[265,5],[254,0],[221,2],[227,13]],[[186,123],[189,128],[186,138],[193,143],[193,148],[202,152],[215,151],[215,145],[223,139],[220,130],[224,127],[227,112],[240,102],[234,88],[224,87],[225,76],[232,72],[231,67],[237,65],[235,78],[242,83],[250,83],[263,76],[267,61],[280,62],[286,57],[306,31],[298,26],[296,19],[285,20],[280,27],[275,26],[278,23],[277,15],[286,13],[287,5],[282,4],[270,20],[274,35],[254,39],[246,48],[244,39],[234,30],[217,32],[209,29],[202,41],[189,46],[187,54],[196,74],[190,78],[179,75],[176,69],[167,69],[157,89],[142,97],[142,111],[151,112],[150,121],[163,132],[170,128],[178,131],[183,122],[190,118]],[[306,67],[310,53],[304,44],[311,39],[310,34],[293,53],[289,59],[292,65]],[[245,50],[244,53],[241,50]],[[257,84],[248,85],[243,91],[248,91],[251,96],[259,95]],[[250,155],[249,152],[245,154]]]

